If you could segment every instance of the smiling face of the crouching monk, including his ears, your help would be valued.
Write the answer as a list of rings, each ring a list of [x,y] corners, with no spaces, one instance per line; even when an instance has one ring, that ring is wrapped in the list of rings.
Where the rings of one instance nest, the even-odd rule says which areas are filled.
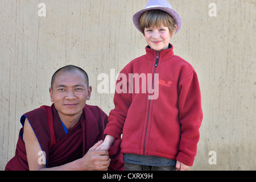
[[[79,71],[57,73],[50,90],[51,101],[60,117],[81,115],[86,100],[90,100],[91,86],[87,86]]]

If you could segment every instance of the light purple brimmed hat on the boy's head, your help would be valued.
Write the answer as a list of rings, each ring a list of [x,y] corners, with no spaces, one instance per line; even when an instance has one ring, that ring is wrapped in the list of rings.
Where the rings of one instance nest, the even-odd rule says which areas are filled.
[[[146,7],[141,10],[138,11],[137,13],[135,13],[133,15],[133,23],[135,25],[135,27],[141,32],[140,28],[139,28],[139,18],[141,17],[141,15],[148,10],[162,10],[162,11],[166,11],[168,14],[170,14],[172,16],[172,18],[174,18],[175,20],[175,24],[177,26],[177,30],[175,32],[175,34],[180,30],[181,27],[181,18],[179,16],[179,14],[176,13],[176,11],[174,11],[172,9],[172,6],[170,5],[170,3],[168,3],[166,0],[149,0]],[[143,33],[143,32],[142,32]]]

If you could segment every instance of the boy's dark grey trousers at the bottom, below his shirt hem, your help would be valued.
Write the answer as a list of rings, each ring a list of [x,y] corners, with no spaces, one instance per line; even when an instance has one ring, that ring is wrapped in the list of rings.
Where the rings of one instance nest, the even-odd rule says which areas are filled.
[[[176,166],[157,167],[125,163],[125,171],[176,171]]]

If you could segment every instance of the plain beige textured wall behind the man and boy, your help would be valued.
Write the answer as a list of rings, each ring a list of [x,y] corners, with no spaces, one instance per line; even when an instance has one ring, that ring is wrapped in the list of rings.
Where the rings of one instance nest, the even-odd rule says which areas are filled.
[[[147,0],[0,0],[0,169],[14,156],[20,116],[51,105],[48,88],[56,69],[75,64],[88,72],[88,104],[107,114],[113,94],[100,94],[100,73],[110,77],[146,42],[132,22]],[[46,17],[38,4],[46,4]],[[192,170],[256,169],[255,0],[172,0],[183,19],[174,36],[176,55],[199,76],[204,120]],[[216,3],[217,16],[209,16]],[[113,70],[112,70],[113,71]],[[217,164],[210,165],[209,152]]]

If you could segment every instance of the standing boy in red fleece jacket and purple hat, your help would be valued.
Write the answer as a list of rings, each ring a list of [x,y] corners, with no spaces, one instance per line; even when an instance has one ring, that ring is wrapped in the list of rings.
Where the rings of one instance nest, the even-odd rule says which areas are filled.
[[[146,38],[146,55],[122,69],[106,137],[97,149],[108,150],[123,134],[125,170],[188,170],[196,156],[203,112],[196,72],[174,55],[169,43],[180,29],[180,16],[167,1],[150,0],[133,20]],[[138,81],[128,78],[135,74],[147,76],[152,86],[147,93],[142,92],[143,81],[139,92],[131,90]],[[125,92],[120,92],[120,85]],[[152,90],[157,97],[152,97]]]

